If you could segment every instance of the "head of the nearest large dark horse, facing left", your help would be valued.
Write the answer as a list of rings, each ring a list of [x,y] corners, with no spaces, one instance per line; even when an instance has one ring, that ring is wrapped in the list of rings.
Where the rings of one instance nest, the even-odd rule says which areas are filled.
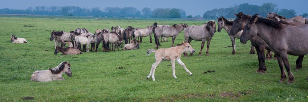
[[[256,22],[258,21],[258,14],[250,17],[249,22],[244,26],[240,41],[243,44],[246,44],[247,40],[250,40],[252,37],[256,36],[258,33],[258,28]]]

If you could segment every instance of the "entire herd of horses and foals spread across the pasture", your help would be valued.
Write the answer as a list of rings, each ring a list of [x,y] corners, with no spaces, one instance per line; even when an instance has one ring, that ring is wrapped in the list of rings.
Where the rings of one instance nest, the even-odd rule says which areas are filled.
[[[234,13],[236,19],[234,21],[229,21],[224,17],[217,17],[218,32],[224,28],[228,33],[232,42],[232,53],[235,54],[235,38],[240,39],[240,42],[246,44],[247,40],[251,42],[250,54],[254,54],[254,48],[257,51],[259,68],[257,73],[265,73],[265,49],[267,50],[266,58],[272,59],[272,52],[275,53],[275,58],[278,60],[278,64],[281,70],[281,79],[279,82],[284,82],[286,79],[286,73],[284,71],[284,66],[287,70],[289,80],[288,84],[294,81],[294,76],[290,71],[290,64],[288,61],[289,55],[298,55],[296,60],[296,70],[300,70],[302,67],[302,60],[304,55],[308,54],[308,25],[307,19],[301,16],[296,16],[290,19],[279,16],[276,13],[268,13],[266,18],[259,17],[258,14],[253,16],[245,15],[242,12],[238,14]],[[174,40],[176,36],[184,30],[185,42],[173,47]],[[82,54],[81,51],[89,51],[89,44],[91,44],[91,49],[97,51],[99,43],[102,42],[103,51],[116,50],[119,51],[119,46],[123,47],[123,42],[125,45],[123,50],[133,50],[139,49],[139,43],[142,42],[142,37],[150,36],[150,43],[152,43],[152,33],[155,38],[155,45],[158,48],[162,40],[167,41],[168,37],[172,37],[171,48],[154,50],[150,49],[147,51],[148,55],[151,52],[155,53],[156,62],[153,63],[150,74],[147,79],[152,75],[153,81],[154,72],[156,66],[162,60],[170,60],[172,62],[173,77],[175,76],[175,65],[174,62],[177,61],[184,67],[184,69],[193,75],[180,60],[181,53],[187,57],[189,52],[191,55],[195,52],[193,47],[189,44],[192,40],[202,41],[201,50],[199,51],[199,56],[205,41],[207,41],[206,54],[209,55],[209,44],[216,32],[215,21],[208,21],[204,25],[200,26],[188,26],[187,24],[179,25],[157,25],[155,22],[146,28],[133,28],[128,26],[126,29],[120,28],[120,26],[112,27],[111,32],[108,28],[97,29],[95,34],[92,34],[87,29],[76,28],[75,31],[64,32],[64,31],[53,31],[51,32],[50,40],[55,39],[55,54],[62,52],[64,55],[77,55]],[[256,36],[257,35],[257,36]],[[140,38],[139,38],[140,37]],[[159,42],[160,37],[162,37]],[[163,38],[164,37],[164,38]],[[138,40],[137,40],[138,38]],[[11,36],[12,43],[28,43],[24,38],[17,38],[16,36]],[[95,46],[96,43],[96,46]],[[69,47],[64,47],[65,44],[69,44]],[[61,45],[61,47],[59,46]],[[83,45],[83,50],[81,50],[81,45]],[[110,49],[111,47],[111,49]],[[48,70],[47,70],[48,71]],[[59,66],[55,68],[50,68],[48,73],[50,74],[61,74],[58,78],[52,78],[52,80],[64,80],[62,78],[62,73],[65,72],[67,75],[71,76],[70,64],[69,62],[62,62]],[[40,71],[35,71],[32,74],[31,80],[33,81],[52,81],[50,79],[42,79],[34,74],[40,73]],[[47,74],[44,72],[42,74]],[[308,82],[308,80],[307,80]]]

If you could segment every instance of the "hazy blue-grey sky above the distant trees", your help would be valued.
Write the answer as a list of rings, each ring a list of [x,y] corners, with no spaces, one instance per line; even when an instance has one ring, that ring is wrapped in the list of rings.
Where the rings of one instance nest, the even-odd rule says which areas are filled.
[[[308,13],[308,0],[0,0],[1,8],[26,9],[36,6],[79,6],[82,8],[99,7],[135,7],[141,11],[144,7],[179,8],[186,11],[186,15],[203,15],[207,10],[227,8],[234,4],[249,3],[262,5],[266,2],[277,4],[278,9],[294,9],[297,15]],[[116,2],[117,1],[117,2]]]

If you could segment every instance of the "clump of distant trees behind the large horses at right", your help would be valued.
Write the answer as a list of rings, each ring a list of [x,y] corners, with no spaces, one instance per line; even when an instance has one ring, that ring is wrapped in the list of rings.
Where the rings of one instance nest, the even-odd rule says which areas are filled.
[[[294,17],[296,12],[294,9],[277,9],[274,3],[264,3],[261,6],[250,5],[248,3],[234,5],[228,8],[212,9],[203,14],[204,18],[216,18],[224,16],[226,18],[235,18],[234,13],[243,12],[244,14],[260,14],[261,17],[266,17],[267,13],[275,12],[286,18]],[[307,14],[307,13],[306,13]],[[306,15],[305,13],[303,15]]]

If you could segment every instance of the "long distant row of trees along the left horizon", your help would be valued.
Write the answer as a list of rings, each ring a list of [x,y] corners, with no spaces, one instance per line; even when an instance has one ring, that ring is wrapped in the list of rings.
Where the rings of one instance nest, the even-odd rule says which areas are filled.
[[[106,7],[101,10],[99,7],[91,9],[79,6],[37,6],[27,9],[0,9],[2,14],[35,14],[35,15],[64,15],[64,16],[94,16],[94,17],[151,17],[151,18],[180,18],[186,17],[183,9],[156,8],[151,10],[148,7],[141,11],[134,7]]]

